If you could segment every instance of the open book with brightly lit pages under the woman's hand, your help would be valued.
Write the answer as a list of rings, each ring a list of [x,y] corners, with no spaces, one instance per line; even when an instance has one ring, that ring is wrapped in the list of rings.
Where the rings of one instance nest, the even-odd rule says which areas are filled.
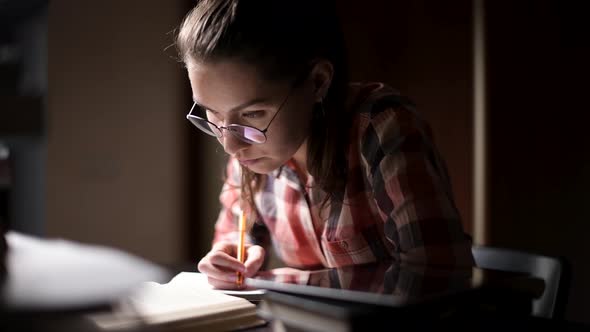
[[[261,291],[212,289],[204,275],[182,272],[166,284],[142,283],[126,297],[115,313],[89,317],[104,330],[120,330],[137,325],[161,326],[164,330],[226,331],[264,324],[256,315],[256,305],[245,297]]]

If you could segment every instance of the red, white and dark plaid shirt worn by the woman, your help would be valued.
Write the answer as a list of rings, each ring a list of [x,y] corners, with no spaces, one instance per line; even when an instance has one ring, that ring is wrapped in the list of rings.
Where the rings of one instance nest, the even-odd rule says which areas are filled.
[[[267,174],[255,195],[250,241],[287,266],[338,267],[397,260],[472,266],[444,162],[412,104],[380,83],[353,84],[344,201],[327,204],[292,162]],[[230,158],[213,242],[237,239],[240,165]]]

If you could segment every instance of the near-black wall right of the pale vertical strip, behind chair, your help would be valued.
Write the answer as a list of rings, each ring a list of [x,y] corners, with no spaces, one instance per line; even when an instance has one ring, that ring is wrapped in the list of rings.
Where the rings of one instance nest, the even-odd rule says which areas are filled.
[[[573,265],[589,322],[590,24],[582,1],[487,1],[491,244]]]

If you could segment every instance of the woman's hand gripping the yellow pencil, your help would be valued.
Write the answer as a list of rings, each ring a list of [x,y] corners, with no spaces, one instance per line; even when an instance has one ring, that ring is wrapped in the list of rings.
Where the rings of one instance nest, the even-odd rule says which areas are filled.
[[[257,245],[247,244],[246,260],[241,263],[236,257],[238,248],[235,243],[216,243],[211,251],[201,259],[198,269],[207,275],[209,284],[219,289],[239,289],[245,285],[238,286],[238,275],[241,272],[244,277],[254,276],[262,263],[264,263],[264,248]]]

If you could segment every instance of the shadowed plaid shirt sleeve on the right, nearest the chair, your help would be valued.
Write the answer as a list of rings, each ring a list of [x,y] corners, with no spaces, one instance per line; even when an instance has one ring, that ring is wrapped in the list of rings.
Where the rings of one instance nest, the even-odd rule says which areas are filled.
[[[413,111],[371,112],[362,151],[385,235],[402,262],[472,266],[446,166]]]

